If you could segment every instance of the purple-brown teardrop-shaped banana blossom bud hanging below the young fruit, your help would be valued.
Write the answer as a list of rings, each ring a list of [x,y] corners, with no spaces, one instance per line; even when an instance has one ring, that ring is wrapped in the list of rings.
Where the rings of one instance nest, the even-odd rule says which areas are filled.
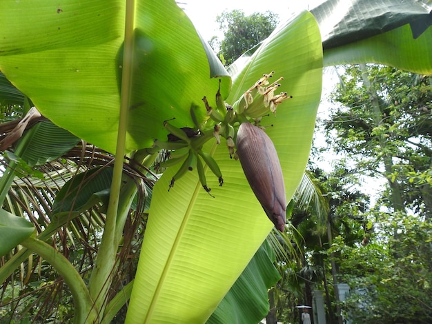
[[[270,137],[251,123],[237,132],[237,155],[246,179],[268,219],[280,232],[286,223],[286,195],[282,168]]]

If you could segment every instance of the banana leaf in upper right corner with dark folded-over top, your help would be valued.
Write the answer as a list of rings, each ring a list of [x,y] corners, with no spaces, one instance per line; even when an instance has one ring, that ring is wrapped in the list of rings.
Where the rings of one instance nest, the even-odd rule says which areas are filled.
[[[324,65],[381,63],[432,74],[432,6],[424,1],[328,0],[318,21]]]

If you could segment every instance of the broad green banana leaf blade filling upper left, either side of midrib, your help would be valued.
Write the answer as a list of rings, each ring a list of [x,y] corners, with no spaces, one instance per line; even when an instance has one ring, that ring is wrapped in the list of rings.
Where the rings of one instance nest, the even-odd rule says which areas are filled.
[[[1,72],[45,117],[108,152],[117,139],[125,3],[0,2]],[[134,9],[127,150],[165,138],[166,119],[193,127],[190,105],[204,95],[214,105],[219,78],[210,73],[227,75],[175,1],[141,0]],[[229,87],[222,77],[224,97]]]

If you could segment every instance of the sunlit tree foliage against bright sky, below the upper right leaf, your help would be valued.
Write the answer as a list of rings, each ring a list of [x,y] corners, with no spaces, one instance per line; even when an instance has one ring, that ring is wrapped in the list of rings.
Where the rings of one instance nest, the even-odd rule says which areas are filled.
[[[372,88],[368,88],[365,73],[355,65],[346,67],[333,93],[333,101],[341,105],[335,106],[326,123],[328,142],[336,152],[346,154],[356,173],[384,176],[389,183],[382,196],[384,205],[395,207],[398,190],[404,206],[430,217],[430,79],[371,65],[367,78]]]

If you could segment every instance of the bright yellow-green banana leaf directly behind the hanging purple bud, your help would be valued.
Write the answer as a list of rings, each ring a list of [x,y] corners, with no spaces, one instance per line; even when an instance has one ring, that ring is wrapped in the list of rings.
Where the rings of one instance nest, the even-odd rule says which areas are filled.
[[[266,117],[284,170],[288,198],[308,159],[322,85],[322,47],[315,19],[303,12],[266,40],[237,74],[233,103],[264,72],[283,76],[293,99]],[[225,183],[210,170],[212,198],[197,174],[188,172],[168,192],[177,168],[168,169],[153,190],[146,235],[129,303],[127,323],[202,323],[212,314],[273,224],[268,221],[226,145],[208,143]]]

